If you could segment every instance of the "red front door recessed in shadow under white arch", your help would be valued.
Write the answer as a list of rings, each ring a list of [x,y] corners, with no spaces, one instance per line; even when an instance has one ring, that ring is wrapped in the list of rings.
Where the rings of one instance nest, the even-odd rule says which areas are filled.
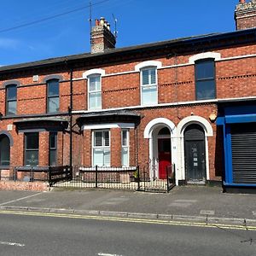
[[[166,178],[166,166],[171,166],[171,139],[158,139],[159,178]]]

